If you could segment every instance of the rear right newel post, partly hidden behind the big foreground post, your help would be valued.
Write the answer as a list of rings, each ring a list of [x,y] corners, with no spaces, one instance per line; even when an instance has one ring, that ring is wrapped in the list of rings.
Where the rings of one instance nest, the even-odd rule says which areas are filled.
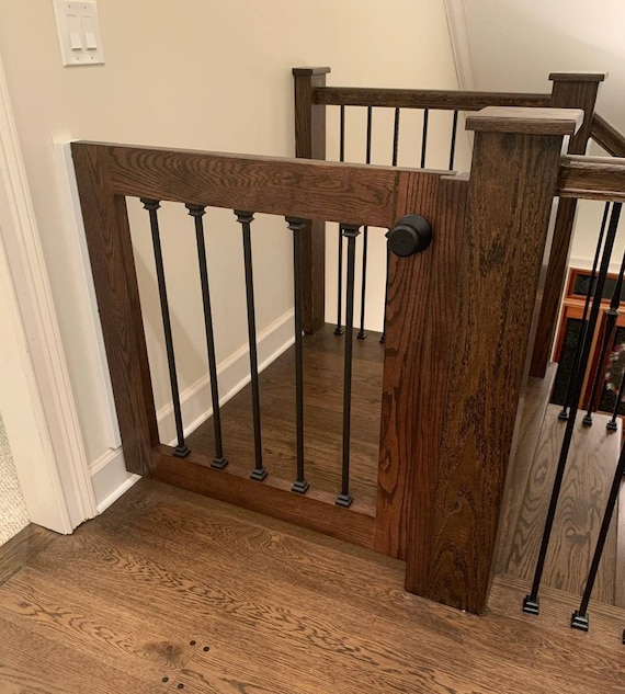
[[[549,79],[553,81],[552,107],[583,111],[583,123],[571,136],[568,153],[584,155],[590,139],[599,86],[605,79],[605,75],[603,72],[553,72]],[[538,378],[545,376],[554,344],[556,320],[567,275],[576,207],[577,200],[572,197],[561,200],[558,205],[543,305],[530,366],[530,374]]]

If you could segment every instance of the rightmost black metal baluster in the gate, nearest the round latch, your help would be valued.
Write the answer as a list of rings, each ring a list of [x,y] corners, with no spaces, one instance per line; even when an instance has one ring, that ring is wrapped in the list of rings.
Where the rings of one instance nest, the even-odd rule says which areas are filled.
[[[348,239],[348,297],[345,316],[345,365],[343,377],[343,467],[341,475],[341,493],[337,497],[337,505],[352,505],[354,498],[350,493],[350,425],[352,418],[352,346],[354,337],[354,271],[356,263],[356,237],[360,226],[342,224],[341,232]]]

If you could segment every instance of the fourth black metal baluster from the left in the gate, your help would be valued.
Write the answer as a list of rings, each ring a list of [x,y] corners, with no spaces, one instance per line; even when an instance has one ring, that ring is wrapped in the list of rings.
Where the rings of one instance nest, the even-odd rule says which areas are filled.
[[[302,329],[302,230],[306,223],[295,217],[286,217],[293,231],[293,269],[295,293],[295,411],[297,429],[297,477],[292,491],[305,494],[310,485],[304,476],[304,344]]]

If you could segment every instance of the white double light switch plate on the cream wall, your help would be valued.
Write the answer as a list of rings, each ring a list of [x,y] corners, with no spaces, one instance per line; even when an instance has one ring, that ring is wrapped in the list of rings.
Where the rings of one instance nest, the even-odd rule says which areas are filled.
[[[95,0],[54,0],[54,10],[63,64],[103,64],[104,52]]]

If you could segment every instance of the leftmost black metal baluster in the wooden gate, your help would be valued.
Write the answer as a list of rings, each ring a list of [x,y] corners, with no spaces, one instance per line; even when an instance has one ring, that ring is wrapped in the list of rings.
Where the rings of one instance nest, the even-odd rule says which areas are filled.
[[[160,298],[160,311],[162,315],[162,329],[164,333],[164,346],[167,350],[167,363],[169,367],[169,382],[171,384],[171,399],[173,403],[173,419],[175,421],[175,434],[178,445],[173,450],[177,458],[185,458],[191,450],[184,443],[184,431],[182,428],[182,410],[180,407],[180,390],[178,387],[178,372],[175,368],[175,355],[173,353],[173,337],[171,334],[171,317],[169,314],[169,300],[167,297],[167,284],[164,281],[164,265],[162,262],[162,248],[160,244],[160,230],[158,224],[158,208],[160,203],[158,200],[149,197],[140,198],[144,207],[150,216],[150,229],[152,232],[152,247],[155,251],[155,264],[157,271],[158,292]]]

